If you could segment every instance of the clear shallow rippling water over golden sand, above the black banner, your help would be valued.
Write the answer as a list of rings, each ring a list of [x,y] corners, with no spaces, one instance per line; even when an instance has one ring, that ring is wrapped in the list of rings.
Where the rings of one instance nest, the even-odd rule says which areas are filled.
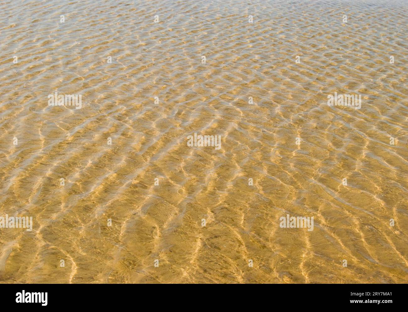
[[[0,282],[408,282],[407,12],[2,1],[0,217],[33,229],[0,228]]]

